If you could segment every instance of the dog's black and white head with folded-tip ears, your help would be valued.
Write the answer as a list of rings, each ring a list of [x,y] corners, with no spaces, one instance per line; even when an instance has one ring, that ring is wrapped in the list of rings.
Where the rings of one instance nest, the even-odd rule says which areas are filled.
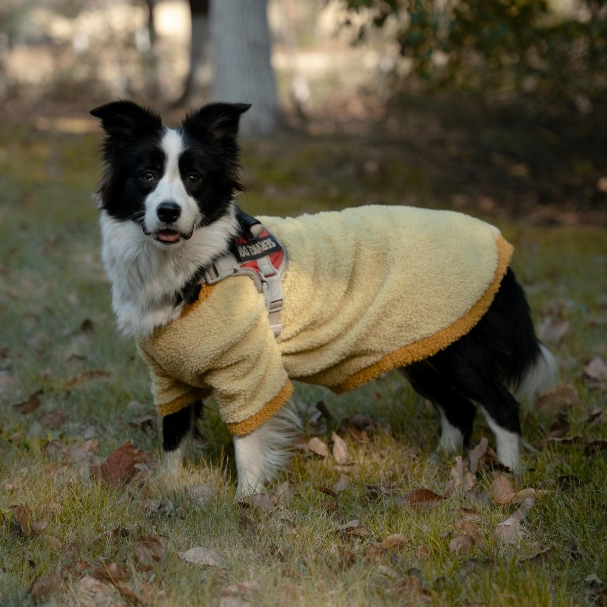
[[[242,190],[236,135],[249,107],[212,103],[178,129],[132,101],[91,110],[106,132],[101,208],[114,220],[137,223],[160,248],[179,246],[220,219]]]

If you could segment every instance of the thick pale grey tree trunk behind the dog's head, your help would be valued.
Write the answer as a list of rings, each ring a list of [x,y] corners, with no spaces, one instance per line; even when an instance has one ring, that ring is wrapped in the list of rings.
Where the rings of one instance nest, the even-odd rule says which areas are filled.
[[[280,124],[266,0],[213,0],[213,94],[217,101],[251,103],[245,134],[266,134]]]

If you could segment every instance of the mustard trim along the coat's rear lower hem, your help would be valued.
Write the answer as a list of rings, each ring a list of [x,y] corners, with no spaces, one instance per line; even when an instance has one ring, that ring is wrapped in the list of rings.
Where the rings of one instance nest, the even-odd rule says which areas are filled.
[[[506,274],[514,251],[514,247],[510,245],[503,236],[498,237],[496,243],[498,262],[493,280],[481,295],[480,299],[476,301],[464,316],[456,320],[452,325],[449,325],[449,327],[438,331],[438,333],[435,333],[430,337],[426,337],[426,339],[421,339],[413,344],[405,345],[395,352],[386,354],[384,358],[380,359],[375,364],[351,375],[342,384],[329,386],[331,391],[336,394],[349,392],[362,384],[366,384],[368,381],[371,381],[371,379],[378,378],[382,373],[391,371],[396,367],[404,367],[412,362],[428,358],[429,356],[436,354],[439,350],[444,350],[448,345],[452,344],[458,340],[459,337],[464,336],[475,327],[481,317],[489,310],[493,297],[495,297],[495,294],[500,288],[501,279],[504,277],[504,274]]]

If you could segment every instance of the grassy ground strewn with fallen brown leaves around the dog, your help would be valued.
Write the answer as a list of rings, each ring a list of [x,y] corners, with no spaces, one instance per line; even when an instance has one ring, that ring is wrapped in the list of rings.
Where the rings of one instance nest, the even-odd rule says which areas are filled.
[[[572,387],[524,406],[523,435],[538,453],[524,452],[523,472],[501,476],[486,458],[470,490],[470,475],[467,489],[447,486],[455,459],[432,456],[435,415],[398,374],[339,397],[297,385],[304,442],[316,436],[318,449],[337,430],[347,453],[339,438],[326,457],[298,450],[268,487],[273,498],[239,504],[229,435],[212,404],[179,483],[158,477],[147,371],[115,331],[98,256],[90,191],[99,135],[44,127],[0,129],[0,605],[607,602],[607,229],[580,222],[583,205],[574,225],[547,226],[521,209],[502,212],[498,188],[493,202],[458,198],[446,187],[451,172],[395,141],[246,142],[241,203],[251,213],[455,201],[490,215],[515,245],[514,270],[560,382]],[[318,419],[319,401],[329,421]],[[338,430],[357,413],[368,416],[367,432],[352,421]],[[557,440],[545,441],[551,431]],[[472,443],[482,436],[495,446],[479,417]],[[91,474],[127,440],[141,452],[124,447],[122,467],[115,456]],[[506,479],[513,491],[535,490],[531,508],[500,498]],[[451,495],[414,492],[422,488]],[[513,514],[521,520],[510,518],[504,537],[498,524]],[[206,552],[186,552],[193,547]],[[585,581],[593,574],[598,581]],[[228,588],[239,582],[248,584]]]

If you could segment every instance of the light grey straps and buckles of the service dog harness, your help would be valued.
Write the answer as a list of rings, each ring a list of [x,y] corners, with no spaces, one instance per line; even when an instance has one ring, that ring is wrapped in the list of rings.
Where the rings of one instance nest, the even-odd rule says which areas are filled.
[[[268,230],[265,226],[257,223],[252,226],[250,231],[253,237],[257,238],[263,231]],[[271,234],[271,232],[270,232]],[[274,237],[276,240],[276,237]],[[285,291],[282,288],[280,276],[287,263],[287,249],[282,248],[283,256],[280,266],[274,267],[270,261],[270,256],[260,257],[256,259],[259,273],[253,268],[245,268],[242,263],[236,259],[233,253],[228,253],[217,259],[203,274],[203,279],[208,285],[213,285],[220,280],[224,280],[229,276],[249,276],[253,279],[257,291],[263,294],[265,299],[268,318],[270,319],[270,327],[274,333],[274,337],[278,337],[282,331],[280,324],[280,311],[285,307]]]

